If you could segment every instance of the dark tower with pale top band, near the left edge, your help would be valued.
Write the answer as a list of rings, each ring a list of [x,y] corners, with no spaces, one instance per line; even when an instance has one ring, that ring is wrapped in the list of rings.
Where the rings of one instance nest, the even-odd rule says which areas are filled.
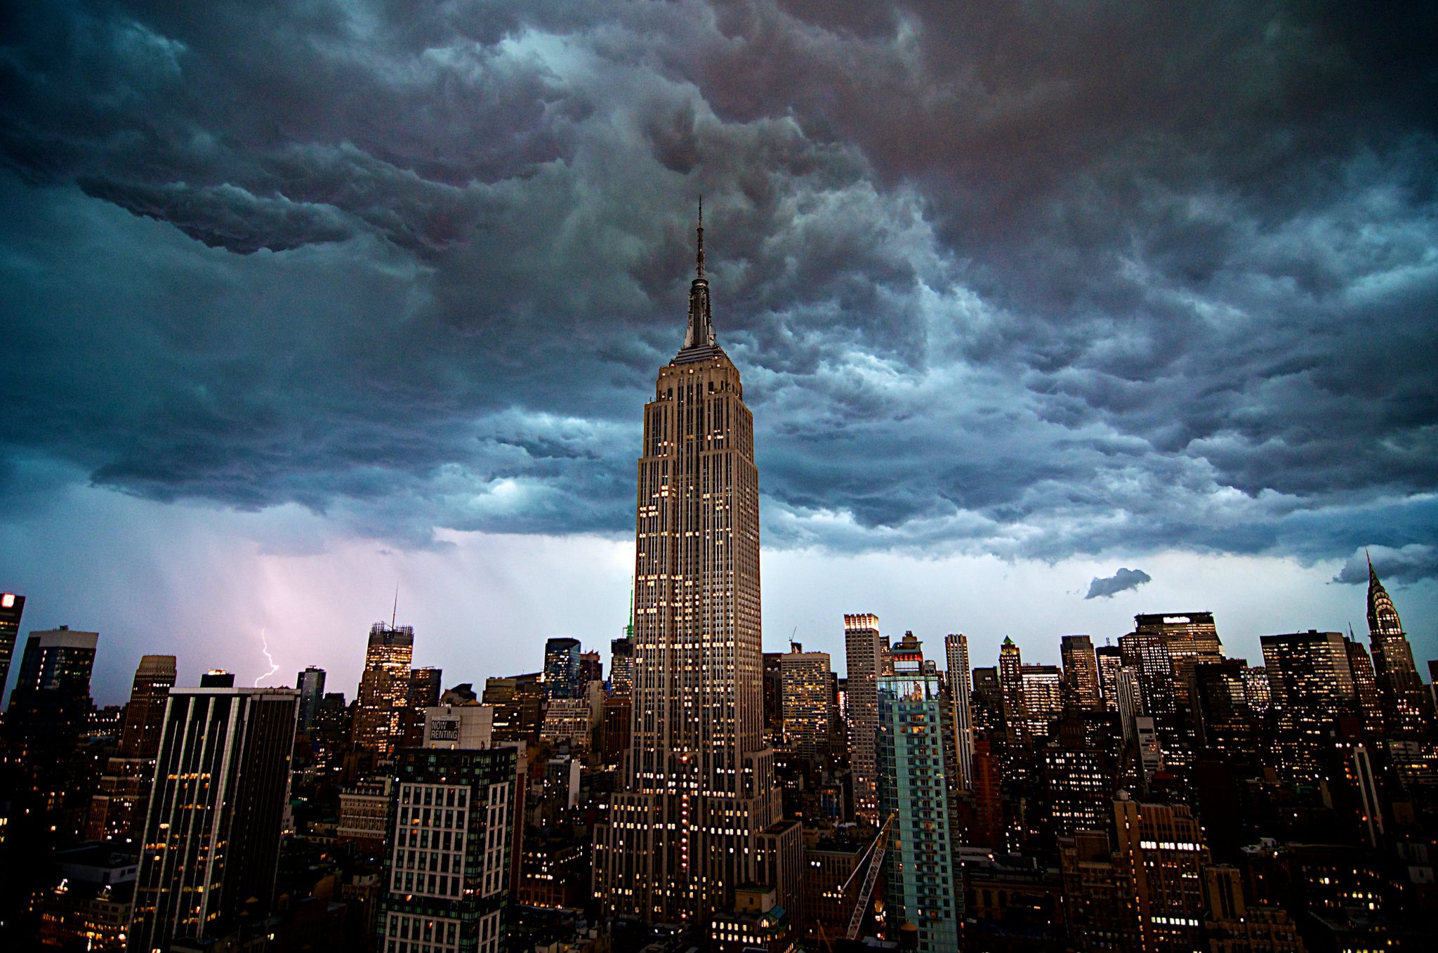
[[[75,746],[92,704],[98,641],[98,632],[60,627],[30,632],[24,643],[4,732],[9,758],[20,765],[22,783],[42,811],[60,806],[69,793]]]

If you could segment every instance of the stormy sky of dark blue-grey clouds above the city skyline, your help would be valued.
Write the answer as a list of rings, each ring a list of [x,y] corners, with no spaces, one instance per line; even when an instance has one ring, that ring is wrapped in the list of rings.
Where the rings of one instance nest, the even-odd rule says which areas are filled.
[[[1422,667],[1434,49],[1419,3],[6,3],[0,588],[106,701],[141,651],[352,694],[395,585],[446,684],[607,644],[702,194],[769,648],[1211,609],[1257,663],[1363,632],[1368,546]]]

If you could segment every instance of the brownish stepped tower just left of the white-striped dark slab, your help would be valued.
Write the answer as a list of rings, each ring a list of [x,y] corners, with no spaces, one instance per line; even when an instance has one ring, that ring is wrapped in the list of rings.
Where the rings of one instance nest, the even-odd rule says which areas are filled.
[[[174,655],[142,655],[135,668],[115,756],[105,762],[99,792],[91,798],[85,835],[92,841],[139,835],[150,782],[160,753],[165,704],[175,684]]]

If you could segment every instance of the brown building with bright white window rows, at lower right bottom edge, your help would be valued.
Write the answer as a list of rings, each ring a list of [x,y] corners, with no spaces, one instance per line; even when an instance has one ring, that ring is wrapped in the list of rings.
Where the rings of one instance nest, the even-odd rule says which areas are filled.
[[[1145,952],[1202,949],[1208,847],[1186,805],[1113,802],[1116,861],[1137,906]]]

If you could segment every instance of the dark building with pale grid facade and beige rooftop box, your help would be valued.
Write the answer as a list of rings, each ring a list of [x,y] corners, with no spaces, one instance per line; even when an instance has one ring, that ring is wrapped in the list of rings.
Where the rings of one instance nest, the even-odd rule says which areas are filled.
[[[381,953],[500,949],[518,752],[490,747],[492,719],[487,706],[431,707],[424,747],[395,758]]]

